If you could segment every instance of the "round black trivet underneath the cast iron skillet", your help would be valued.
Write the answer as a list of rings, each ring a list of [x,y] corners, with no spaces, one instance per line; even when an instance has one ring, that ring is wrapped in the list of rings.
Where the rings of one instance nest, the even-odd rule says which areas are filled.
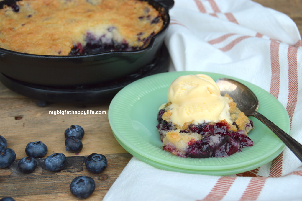
[[[115,94],[128,84],[143,77],[167,72],[169,69],[170,56],[166,46],[163,44],[159,53],[152,63],[140,69],[139,72],[126,76],[115,81],[114,85],[104,83],[97,85],[48,87],[25,83],[0,73],[0,81],[12,91],[27,96],[37,101],[59,102],[59,103],[106,103]]]

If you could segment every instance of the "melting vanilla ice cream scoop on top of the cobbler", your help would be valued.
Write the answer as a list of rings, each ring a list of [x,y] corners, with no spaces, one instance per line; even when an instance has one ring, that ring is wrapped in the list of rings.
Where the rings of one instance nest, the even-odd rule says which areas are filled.
[[[230,119],[230,99],[220,95],[220,89],[207,75],[184,75],[175,79],[169,87],[166,109],[172,112],[171,121],[182,126],[185,122],[208,123]]]

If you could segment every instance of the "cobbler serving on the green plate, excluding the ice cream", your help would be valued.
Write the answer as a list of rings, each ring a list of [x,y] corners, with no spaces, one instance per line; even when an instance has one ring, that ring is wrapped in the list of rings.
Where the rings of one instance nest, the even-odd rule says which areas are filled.
[[[252,140],[247,137],[254,128],[252,121],[236,107],[230,96],[225,96],[231,100],[229,106],[233,124],[223,119],[198,125],[193,121],[175,125],[170,119],[172,112],[160,110],[157,128],[163,150],[180,157],[225,157],[241,151],[243,147],[252,146]],[[166,104],[165,108],[169,105]]]

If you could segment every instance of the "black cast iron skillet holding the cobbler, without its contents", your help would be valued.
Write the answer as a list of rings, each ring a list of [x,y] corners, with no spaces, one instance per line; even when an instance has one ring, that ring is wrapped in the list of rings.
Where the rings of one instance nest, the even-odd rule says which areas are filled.
[[[162,15],[164,25],[147,47],[134,51],[93,53],[77,56],[44,56],[0,48],[0,72],[4,75],[43,86],[76,86],[106,82],[136,73],[151,63],[162,47],[170,23],[168,10],[173,0],[142,0]],[[16,0],[4,0],[11,5]]]

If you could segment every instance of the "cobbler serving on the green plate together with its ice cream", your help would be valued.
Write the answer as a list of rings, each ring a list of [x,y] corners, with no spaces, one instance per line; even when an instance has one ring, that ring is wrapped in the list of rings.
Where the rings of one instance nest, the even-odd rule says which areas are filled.
[[[226,157],[253,145],[253,122],[204,74],[175,79],[157,115],[162,149],[180,157]]]

